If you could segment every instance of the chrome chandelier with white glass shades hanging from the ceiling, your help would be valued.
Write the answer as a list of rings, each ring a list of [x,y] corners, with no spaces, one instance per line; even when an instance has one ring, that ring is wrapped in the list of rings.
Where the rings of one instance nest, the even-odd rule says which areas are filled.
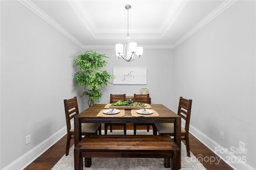
[[[143,53],[142,47],[137,47],[137,43],[131,42],[131,37],[129,35],[129,10],[132,8],[131,5],[125,5],[124,8],[127,10],[127,36],[125,37],[125,45],[116,44],[116,56],[123,61],[132,61],[140,56]],[[127,55],[124,56],[127,45]],[[135,56],[136,54],[136,56]]]

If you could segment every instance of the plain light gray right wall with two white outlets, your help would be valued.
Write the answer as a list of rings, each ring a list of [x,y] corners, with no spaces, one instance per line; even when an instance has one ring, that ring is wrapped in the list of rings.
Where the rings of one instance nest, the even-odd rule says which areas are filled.
[[[200,137],[194,131],[201,141],[214,151],[214,147],[221,146],[238,158],[245,156],[242,158],[253,168],[255,16],[255,1],[238,1],[176,47],[173,96],[193,100],[190,125],[195,128],[191,130],[206,136]],[[224,132],[224,140],[220,139],[220,131]],[[239,141],[246,143],[246,154],[239,152]],[[234,168],[240,167],[238,160],[229,160],[230,155],[222,156]]]

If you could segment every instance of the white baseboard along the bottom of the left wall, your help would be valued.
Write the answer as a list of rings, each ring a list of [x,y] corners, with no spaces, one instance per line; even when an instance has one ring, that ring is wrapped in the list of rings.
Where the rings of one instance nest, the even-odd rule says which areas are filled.
[[[64,135],[67,134],[67,127],[63,127],[58,132],[54,133],[48,139],[28,151],[26,154],[20,156],[17,160],[3,168],[2,170],[21,170],[31,164],[36,158],[48,150],[52,145],[59,141]]]

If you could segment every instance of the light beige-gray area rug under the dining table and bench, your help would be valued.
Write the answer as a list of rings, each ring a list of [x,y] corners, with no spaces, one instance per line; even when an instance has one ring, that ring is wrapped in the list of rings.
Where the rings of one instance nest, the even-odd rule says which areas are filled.
[[[126,133],[133,135],[133,130],[127,130]],[[113,130],[112,133],[108,131],[108,135],[123,134],[122,130]],[[137,130],[137,135],[152,134],[152,130],[149,132]],[[206,170],[191,152],[191,157],[187,156],[186,146],[181,144],[181,170]],[[70,148],[68,156],[62,156],[52,170],[74,170],[74,145]],[[84,167],[84,170],[170,170],[170,168],[164,168],[164,158],[92,158],[91,167]]]

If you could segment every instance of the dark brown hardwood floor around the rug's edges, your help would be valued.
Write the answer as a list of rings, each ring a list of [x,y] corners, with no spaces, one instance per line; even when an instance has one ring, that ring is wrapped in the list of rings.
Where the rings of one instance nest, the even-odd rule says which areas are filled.
[[[104,127],[104,126],[102,126]],[[113,127],[113,129],[120,129],[122,127]],[[128,125],[128,130],[132,130],[133,126]],[[139,126],[137,129],[146,129],[146,127]],[[189,135],[190,151],[198,158],[207,170],[233,170],[228,164],[214,154],[210,149],[204,146],[193,135]],[[74,144],[71,140],[70,146]],[[34,162],[27,166],[24,170],[50,170],[62,158],[66,152],[66,135],[55,143],[50,149],[46,150]],[[212,160],[212,161],[210,161]],[[215,161],[213,161],[215,160]],[[218,162],[220,160],[220,162]]]

